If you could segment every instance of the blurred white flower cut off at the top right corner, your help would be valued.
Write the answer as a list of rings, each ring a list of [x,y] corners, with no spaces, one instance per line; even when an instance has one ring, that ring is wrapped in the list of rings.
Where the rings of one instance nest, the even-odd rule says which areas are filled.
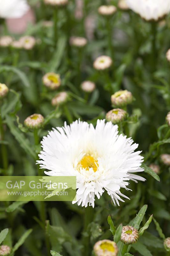
[[[159,20],[170,12],[170,0],[126,0],[126,3],[145,20]]]

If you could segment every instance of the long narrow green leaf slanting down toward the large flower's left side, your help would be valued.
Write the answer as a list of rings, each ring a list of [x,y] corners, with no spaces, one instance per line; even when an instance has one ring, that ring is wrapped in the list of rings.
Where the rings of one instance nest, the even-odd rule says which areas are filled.
[[[12,135],[15,137],[15,139],[18,141],[20,146],[26,151],[26,153],[30,156],[32,156],[36,160],[36,154],[29,142],[29,140],[26,139],[23,133],[20,132],[20,130],[14,125],[13,119],[11,116],[6,116],[6,124],[8,125]]]

